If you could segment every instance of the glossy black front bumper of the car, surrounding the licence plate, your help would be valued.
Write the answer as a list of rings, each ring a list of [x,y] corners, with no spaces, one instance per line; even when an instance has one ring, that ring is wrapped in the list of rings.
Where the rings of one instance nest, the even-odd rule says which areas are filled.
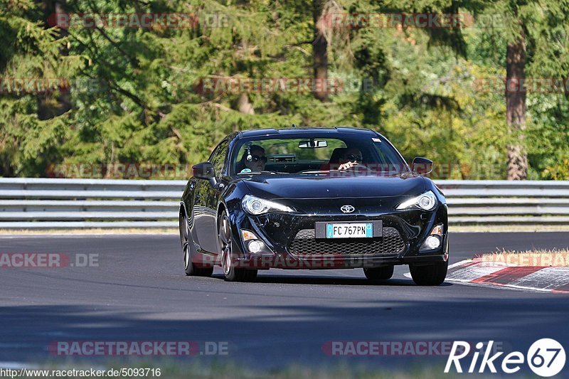
[[[355,203],[353,201],[352,203]],[[329,203],[329,201],[328,201]],[[385,203],[385,200],[382,201]],[[251,216],[243,212],[235,218],[235,248],[239,254],[236,262],[241,267],[268,269],[336,269],[355,267],[381,267],[384,265],[425,264],[444,262],[448,257],[447,205],[440,203],[435,210],[382,211],[384,204],[355,204],[359,213],[344,214],[330,210],[317,201],[297,213],[268,213]],[[300,208],[296,206],[295,208]],[[312,209],[307,209],[312,208]],[[319,208],[319,209],[315,209]],[[338,208],[338,207],[336,207]],[[388,208],[384,207],[383,209]],[[365,239],[304,240],[298,244],[295,237],[314,230],[317,222],[370,222],[381,220],[383,237]],[[435,225],[442,225],[442,243],[436,250],[420,250]],[[248,251],[241,230],[250,230],[264,244],[262,251]],[[307,232],[308,231],[308,232]],[[312,232],[314,233],[314,232]],[[391,234],[389,234],[391,233]],[[397,236],[395,236],[395,234]],[[309,234],[308,234],[309,235]],[[386,237],[387,236],[387,237]],[[387,240],[387,238],[391,240]],[[397,240],[396,238],[399,238]],[[384,242],[390,243],[384,243]],[[338,243],[338,248],[328,248]],[[370,249],[366,250],[368,244]],[[299,250],[299,246],[301,249]],[[326,248],[322,248],[325,246]],[[306,252],[302,248],[310,247]]]

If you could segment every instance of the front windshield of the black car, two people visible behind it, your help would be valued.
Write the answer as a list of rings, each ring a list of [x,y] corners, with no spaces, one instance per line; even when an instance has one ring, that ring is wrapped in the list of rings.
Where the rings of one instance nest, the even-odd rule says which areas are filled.
[[[231,157],[232,175],[252,174],[403,174],[408,166],[385,139],[371,135],[329,137],[317,134],[240,139]]]

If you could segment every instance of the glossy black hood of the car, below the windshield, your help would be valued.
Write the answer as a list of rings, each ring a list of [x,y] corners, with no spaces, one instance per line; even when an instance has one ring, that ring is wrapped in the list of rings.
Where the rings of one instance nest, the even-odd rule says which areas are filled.
[[[252,176],[244,181],[253,196],[267,199],[415,196],[426,188],[421,176]]]

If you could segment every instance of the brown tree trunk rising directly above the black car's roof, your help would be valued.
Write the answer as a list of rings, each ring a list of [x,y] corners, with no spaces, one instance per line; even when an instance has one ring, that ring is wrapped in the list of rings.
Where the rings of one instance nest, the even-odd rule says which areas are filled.
[[[312,18],[314,19],[314,42],[312,56],[314,59],[314,96],[320,101],[328,101],[328,41],[318,28],[324,9],[324,0],[312,1]]]

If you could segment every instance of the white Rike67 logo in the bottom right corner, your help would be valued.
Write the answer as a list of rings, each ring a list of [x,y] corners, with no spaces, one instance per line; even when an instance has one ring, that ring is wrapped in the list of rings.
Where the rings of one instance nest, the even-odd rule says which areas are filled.
[[[491,373],[497,373],[497,366],[501,368],[503,373],[513,374],[521,370],[524,363],[527,363],[533,373],[548,378],[557,375],[563,370],[563,367],[565,367],[565,349],[558,341],[551,338],[542,338],[534,342],[528,349],[526,356],[519,351],[512,351],[504,357],[501,357],[504,352],[500,351],[491,356],[493,345],[494,341],[488,341],[488,343],[479,342],[476,344],[476,351],[471,354],[470,344],[468,342],[454,341],[450,356],[447,360],[447,365],[445,366],[445,373],[449,373],[453,365],[457,373],[462,373],[463,368],[461,363],[468,363],[468,359],[464,359],[462,362],[461,360],[467,356],[469,358],[472,356],[472,361],[470,361],[467,369],[468,373],[474,373],[476,371],[478,373],[484,373],[486,372],[486,368],[490,370]],[[482,356],[482,359],[479,361],[480,356]],[[499,358],[501,358],[500,364]],[[464,369],[466,369],[466,367]]]

